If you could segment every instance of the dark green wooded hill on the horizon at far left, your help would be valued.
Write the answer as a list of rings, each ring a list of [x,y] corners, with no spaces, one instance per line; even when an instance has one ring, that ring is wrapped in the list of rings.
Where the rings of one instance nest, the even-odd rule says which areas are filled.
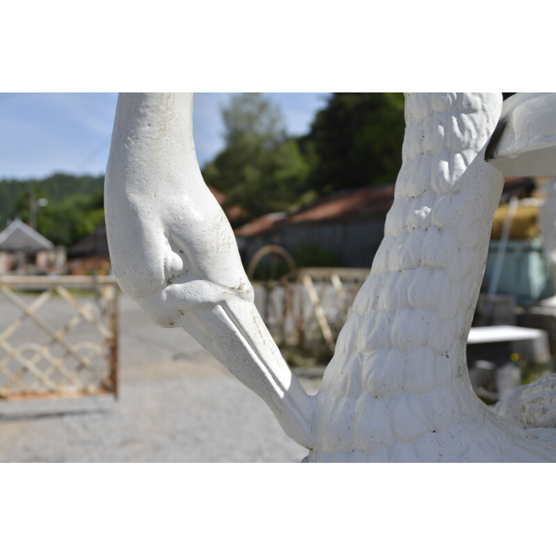
[[[49,203],[57,204],[65,197],[85,195],[89,197],[104,188],[104,176],[72,176],[54,174],[44,179],[0,180],[0,229],[6,227],[8,220],[17,216],[28,218],[29,188],[35,188],[35,199],[44,197]],[[39,209],[41,210],[41,209]]]

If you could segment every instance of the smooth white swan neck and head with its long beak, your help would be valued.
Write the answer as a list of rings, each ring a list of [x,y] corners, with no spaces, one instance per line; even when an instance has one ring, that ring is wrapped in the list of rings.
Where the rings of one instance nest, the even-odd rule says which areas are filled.
[[[202,179],[192,94],[120,95],[105,199],[122,290],[159,324],[186,329],[311,447],[313,400],[256,311],[234,232]]]

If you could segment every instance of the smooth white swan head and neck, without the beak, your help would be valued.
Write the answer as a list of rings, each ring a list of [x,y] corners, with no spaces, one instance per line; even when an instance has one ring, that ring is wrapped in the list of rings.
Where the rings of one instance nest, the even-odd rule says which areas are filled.
[[[187,311],[231,292],[253,296],[234,233],[199,170],[192,115],[188,93],[120,95],[106,168],[114,274],[163,326],[175,321],[171,302]]]

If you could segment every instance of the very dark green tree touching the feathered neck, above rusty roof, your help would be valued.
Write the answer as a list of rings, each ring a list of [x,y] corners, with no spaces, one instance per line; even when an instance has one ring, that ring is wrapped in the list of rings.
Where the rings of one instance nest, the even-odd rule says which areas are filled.
[[[311,187],[326,193],[394,181],[404,127],[402,93],[334,93],[302,141],[311,157]]]

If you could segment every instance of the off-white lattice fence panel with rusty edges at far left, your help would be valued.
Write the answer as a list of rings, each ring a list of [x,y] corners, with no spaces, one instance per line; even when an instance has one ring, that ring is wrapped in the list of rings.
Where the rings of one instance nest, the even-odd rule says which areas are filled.
[[[117,393],[113,277],[0,277],[0,398]]]

